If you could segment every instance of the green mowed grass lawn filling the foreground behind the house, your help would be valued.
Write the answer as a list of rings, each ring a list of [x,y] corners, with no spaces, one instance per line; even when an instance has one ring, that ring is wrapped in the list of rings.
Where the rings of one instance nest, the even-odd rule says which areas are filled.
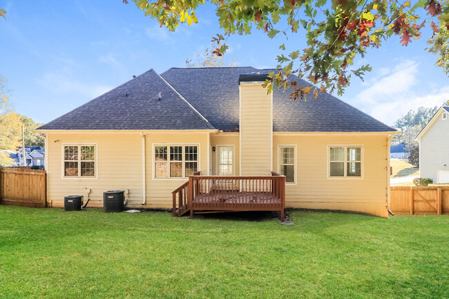
[[[449,297],[449,216],[291,219],[0,206],[0,298]]]

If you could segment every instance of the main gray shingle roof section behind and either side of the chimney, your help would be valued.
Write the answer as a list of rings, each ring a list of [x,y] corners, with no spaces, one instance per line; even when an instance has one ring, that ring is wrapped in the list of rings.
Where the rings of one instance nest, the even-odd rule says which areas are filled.
[[[213,126],[224,131],[238,130],[238,79],[240,74],[276,71],[251,67],[171,68],[161,74]],[[298,87],[312,86],[296,76]],[[275,132],[393,132],[335,96],[318,92],[307,101],[290,99],[293,89],[274,89],[273,130]]]

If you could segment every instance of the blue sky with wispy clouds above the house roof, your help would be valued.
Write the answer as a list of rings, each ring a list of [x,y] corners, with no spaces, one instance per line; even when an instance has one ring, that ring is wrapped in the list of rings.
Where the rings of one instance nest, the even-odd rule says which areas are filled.
[[[160,28],[130,1],[1,1],[0,74],[15,110],[46,123],[150,68],[184,67],[221,33],[213,6],[197,12],[198,24],[177,32]],[[287,49],[303,49],[304,32],[291,35]],[[419,106],[449,99],[449,80],[425,52],[426,34],[408,47],[399,37],[370,50],[356,65],[370,63],[365,82],[354,79],[341,99],[392,125]],[[278,45],[262,32],[231,37],[229,56],[240,66],[276,66]]]

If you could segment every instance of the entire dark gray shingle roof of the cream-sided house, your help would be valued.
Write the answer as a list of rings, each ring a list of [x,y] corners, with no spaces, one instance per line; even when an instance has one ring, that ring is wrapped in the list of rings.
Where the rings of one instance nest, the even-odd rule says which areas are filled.
[[[149,70],[135,79],[39,127],[41,130],[210,130],[238,131],[240,75],[267,74],[251,67]],[[246,77],[246,76],[243,76]],[[311,86],[291,76],[298,86]],[[162,100],[158,101],[159,92]],[[275,132],[392,132],[392,127],[318,93],[289,99],[292,89],[274,90]],[[127,94],[127,96],[125,96]]]

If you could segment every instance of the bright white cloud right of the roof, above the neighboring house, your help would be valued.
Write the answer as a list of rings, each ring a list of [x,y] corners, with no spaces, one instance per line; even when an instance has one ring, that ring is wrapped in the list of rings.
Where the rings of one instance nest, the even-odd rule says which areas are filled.
[[[449,87],[432,89],[421,78],[419,63],[403,61],[394,68],[382,69],[376,79],[367,82],[365,90],[350,103],[374,118],[393,125],[409,110],[418,107],[440,106],[449,99]]]

